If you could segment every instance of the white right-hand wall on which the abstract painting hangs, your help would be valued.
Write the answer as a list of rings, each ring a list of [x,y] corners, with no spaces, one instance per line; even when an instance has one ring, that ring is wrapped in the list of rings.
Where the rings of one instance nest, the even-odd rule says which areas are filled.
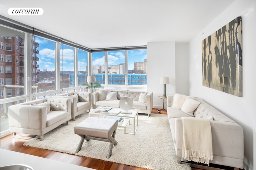
[[[243,97],[202,86],[202,40],[242,16]],[[256,169],[256,2],[236,0],[189,43],[189,90],[244,129],[244,168]]]

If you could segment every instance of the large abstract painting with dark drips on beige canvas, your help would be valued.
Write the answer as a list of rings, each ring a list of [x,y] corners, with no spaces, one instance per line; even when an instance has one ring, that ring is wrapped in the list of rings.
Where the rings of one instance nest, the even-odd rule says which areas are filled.
[[[203,86],[242,97],[242,18],[202,41]]]

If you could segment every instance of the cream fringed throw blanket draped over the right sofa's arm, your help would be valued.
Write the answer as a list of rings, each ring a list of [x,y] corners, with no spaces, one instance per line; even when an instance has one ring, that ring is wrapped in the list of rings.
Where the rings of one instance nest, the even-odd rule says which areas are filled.
[[[209,120],[182,117],[182,158],[209,165],[212,156],[212,131]]]

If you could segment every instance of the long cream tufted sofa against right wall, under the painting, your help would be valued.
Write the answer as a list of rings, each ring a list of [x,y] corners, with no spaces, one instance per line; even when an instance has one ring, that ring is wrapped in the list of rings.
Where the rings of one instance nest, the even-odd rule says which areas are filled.
[[[175,95],[176,97],[179,96],[179,94]],[[185,111],[185,113],[184,110],[189,108],[187,107],[189,106],[189,102],[186,102],[186,104],[186,100],[184,100],[183,103],[180,102],[181,108],[179,109],[176,107],[176,104],[175,107],[173,106],[174,102],[177,102],[177,98],[174,99],[174,96],[167,96],[167,114],[177,156],[182,158],[183,126],[181,117],[200,117],[209,119],[211,125],[213,160],[210,160],[210,163],[231,166],[235,169],[243,169],[243,128],[200,98],[190,97],[198,101],[199,106],[195,107],[195,110],[190,110],[192,111],[192,115],[191,113],[188,114],[187,111]],[[184,95],[181,96],[185,98],[188,97]],[[190,107],[190,109],[191,108],[192,107]],[[193,129],[191,130],[193,131]]]

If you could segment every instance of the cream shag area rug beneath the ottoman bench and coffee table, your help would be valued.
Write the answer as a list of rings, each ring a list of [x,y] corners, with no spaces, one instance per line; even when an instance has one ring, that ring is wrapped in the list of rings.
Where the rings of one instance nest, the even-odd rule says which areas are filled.
[[[124,134],[124,129],[118,127],[115,137],[118,144],[113,147],[109,159],[106,158],[109,143],[103,141],[85,140],[82,149],[76,153],[80,136],[74,134],[74,127],[87,117],[88,113],[82,113],[75,121],[70,120],[68,125],[60,125],[46,133],[44,141],[30,139],[24,145],[153,170],[191,169],[176,156],[167,115],[139,115],[135,135]],[[133,125],[128,125],[126,132],[132,132],[132,127]]]

